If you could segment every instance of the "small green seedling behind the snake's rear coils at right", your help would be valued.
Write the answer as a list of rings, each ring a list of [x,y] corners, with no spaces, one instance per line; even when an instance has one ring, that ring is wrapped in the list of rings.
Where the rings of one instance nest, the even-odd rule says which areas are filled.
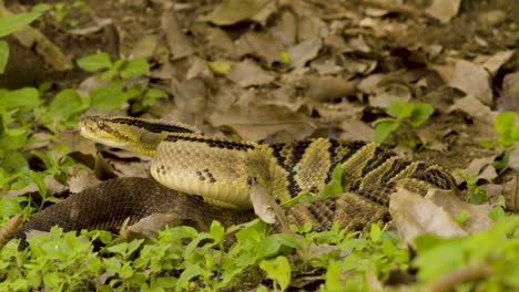
[[[386,113],[390,117],[378,118],[374,122],[375,125],[375,142],[381,143],[386,140],[395,131],[406,127],[416,128],[424,124],[435,108],[425,103],[405,103],[401,98],[394,100],[386,108]],[[415,139],[401,140],[405,145],[413,148],[418,146]]]

